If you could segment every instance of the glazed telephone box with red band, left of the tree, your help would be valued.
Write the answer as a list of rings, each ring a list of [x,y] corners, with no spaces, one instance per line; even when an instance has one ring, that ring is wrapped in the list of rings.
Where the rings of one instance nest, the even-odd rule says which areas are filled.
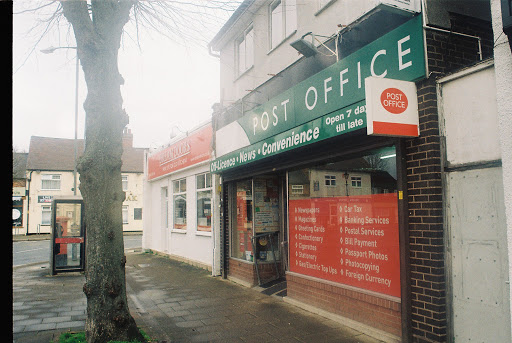
[[[52,201],[51,275],[85,270],[84,202],[80,196]]]

